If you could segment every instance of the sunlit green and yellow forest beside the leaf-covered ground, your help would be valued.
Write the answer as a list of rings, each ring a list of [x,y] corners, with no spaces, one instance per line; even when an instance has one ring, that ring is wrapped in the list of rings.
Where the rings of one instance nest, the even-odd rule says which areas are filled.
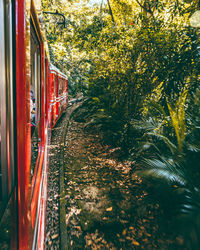
[[[200,245],[200,1],[43,0],[51,61],[84,96],[79,119],[152,183]]]

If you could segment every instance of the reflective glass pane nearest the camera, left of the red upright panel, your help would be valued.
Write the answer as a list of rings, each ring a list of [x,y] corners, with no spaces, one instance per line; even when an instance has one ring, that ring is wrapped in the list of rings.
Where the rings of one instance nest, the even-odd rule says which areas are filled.
[[[12,4],[0,2],[0,197],[5,201],[14,186]]]

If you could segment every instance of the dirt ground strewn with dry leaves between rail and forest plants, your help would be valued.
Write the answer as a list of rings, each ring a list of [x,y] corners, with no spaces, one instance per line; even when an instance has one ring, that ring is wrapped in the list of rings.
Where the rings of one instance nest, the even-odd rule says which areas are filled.
[[[181,249],[134,162],[118,162],[117,150],[74,120],[63,152],[66,249]]]

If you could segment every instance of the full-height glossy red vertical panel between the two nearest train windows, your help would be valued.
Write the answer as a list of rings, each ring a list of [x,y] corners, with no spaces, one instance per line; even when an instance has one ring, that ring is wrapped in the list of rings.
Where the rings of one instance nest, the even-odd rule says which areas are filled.
[[[17,172],[18,172],[18,225],[19,249],[27,249],[29,242],[30,197],[30,74],[26,53],[29,44],[26,26],[25,0],[15,1],[16,29],[16,110],[17,110]]]

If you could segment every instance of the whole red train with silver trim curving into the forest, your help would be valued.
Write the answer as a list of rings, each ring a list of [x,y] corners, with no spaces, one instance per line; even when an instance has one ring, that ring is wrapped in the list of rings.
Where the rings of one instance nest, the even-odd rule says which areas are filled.
[[[51,128],[68,103],[39,0],[0,0],[0,249],[43,249]]]

